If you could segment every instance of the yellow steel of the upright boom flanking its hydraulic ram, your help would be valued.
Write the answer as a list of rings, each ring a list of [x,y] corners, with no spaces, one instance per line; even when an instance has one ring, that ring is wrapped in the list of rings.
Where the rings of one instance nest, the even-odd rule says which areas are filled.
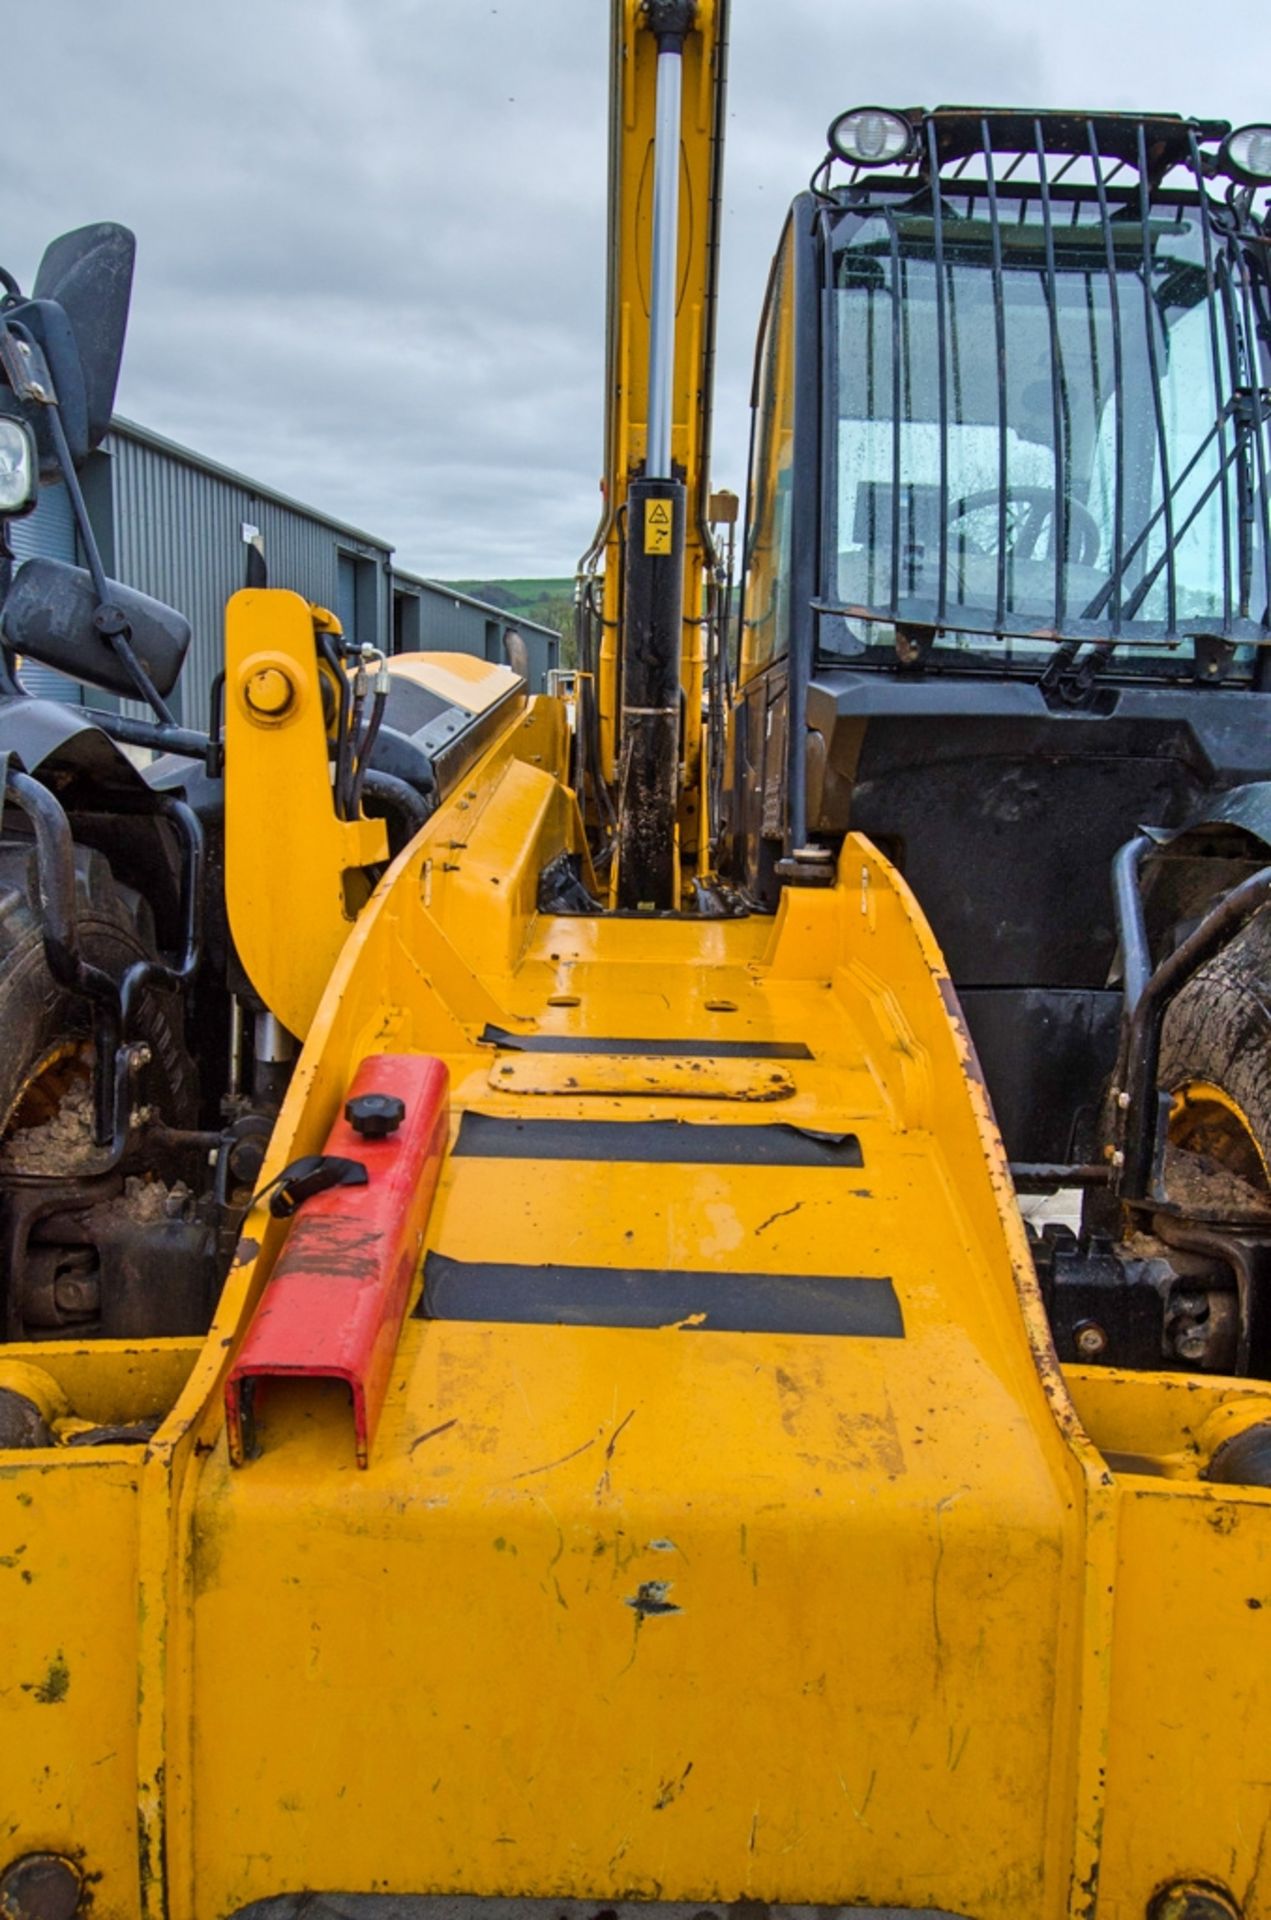
[[[683,793],[680,835],[689,858],[705,845],[703,580],[710,455],[710,380],[718,276],[726,0],[697,0],[683,42],[680,227],[672,459],[687,484],[683,564]],[[618,632],[628,482],[645,459],[649,419],[649,253],[653,242],[653,129],[657,40],[641,0],[612,0],[609,88],[609,348],[605,388],[605,637],[599,659],[601,770],[614,778]]]

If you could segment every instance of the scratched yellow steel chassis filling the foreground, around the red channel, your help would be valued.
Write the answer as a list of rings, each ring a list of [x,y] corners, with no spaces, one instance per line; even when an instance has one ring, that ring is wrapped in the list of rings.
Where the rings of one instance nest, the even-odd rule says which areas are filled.
[[[234,676],[269,618],[230,611],[257,799],[284,733]],[[1179,1878],[1258,1920],[1271,1496],[1200,1473],[1271,1392],[1060,1375],[941,956],[866,841],[776,920],[543,916],[541,868],[580,847],[563,756],[559,707],[516,703],[384,876],[265,1179],[321,1148],[363,1058],[430,1052],[453,1127],[707,1144],[453,1158],[428,1248],[889,1281],[904,1336],[409,1317],[369,1471],[330,1386],[271,1390],[234,1469],[225,1373],[286,1235],[257,1208],[205,1340],[15,1352],[81,1417],[163,1421],[144,1450],[0,1457],[0,1866],[71,1855],[96,1916],[150,1920],[301,1889],[1121,1920]],[[330,879],[303,828],[271,856],[305,924]],[[257,966],[286,996],[307,962],[276,927]],[[864,1165],[712,1164],[712,1125],[774,1117],[854,1133]]]

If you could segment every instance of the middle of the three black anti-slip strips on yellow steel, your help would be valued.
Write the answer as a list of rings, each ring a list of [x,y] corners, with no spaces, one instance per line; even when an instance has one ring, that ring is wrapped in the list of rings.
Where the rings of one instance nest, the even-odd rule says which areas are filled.
[[[854,1133],[705,1127],[682,1119],[505,1119],[465,1114],[451,1152],[480,1160],[636,1160],[662,1167],[864,1167]]]

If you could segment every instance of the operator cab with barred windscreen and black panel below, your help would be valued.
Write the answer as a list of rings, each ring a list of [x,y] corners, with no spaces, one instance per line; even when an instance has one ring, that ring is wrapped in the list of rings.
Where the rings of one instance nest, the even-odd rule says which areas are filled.
[[[1094,1144],[1117,847],[1271,772],[1267,179],[1219,121],[864,109],[774,261],[731,872],[897,860],[1014,1158]]]

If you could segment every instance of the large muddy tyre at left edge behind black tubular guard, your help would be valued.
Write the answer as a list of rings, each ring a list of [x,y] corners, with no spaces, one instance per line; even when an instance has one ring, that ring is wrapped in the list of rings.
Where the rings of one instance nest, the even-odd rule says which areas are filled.
[[[84,1108],[90,1071],[92,1016],[60,987],[44,960],[38,881],[31,841],[0,839],[0,1169],[92,1171],[92,1139],[83,1127],[63,1129],[48,1148],[50,1121],[71,1100]],[[134,960],[154,958],[154,918],[148,902],[111,874],[106,854],[75,849],[75,902],[84,960],[119,977]],[[192,1125],[198,1112],[194,1064],[184,1046],[180,996],[142,995],[136,1039],[150,1064],[136,1083],[136,1100],[154,1106],[169,1125]],[[31,1133],[35,1129],[35,1133]],[[27,1150],[23,1137],[31,1133]]]

